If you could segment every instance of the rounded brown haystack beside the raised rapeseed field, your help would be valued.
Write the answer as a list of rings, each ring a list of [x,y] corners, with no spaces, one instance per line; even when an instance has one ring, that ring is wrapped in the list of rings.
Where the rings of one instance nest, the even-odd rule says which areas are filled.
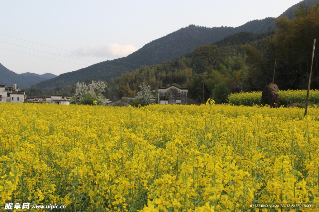
[[[263,90],[261,94],[260,104],[269,105],[270,107],[279,107],[280,106],[280,97],[277,93],[278,86],[276,84],[269,84]]]

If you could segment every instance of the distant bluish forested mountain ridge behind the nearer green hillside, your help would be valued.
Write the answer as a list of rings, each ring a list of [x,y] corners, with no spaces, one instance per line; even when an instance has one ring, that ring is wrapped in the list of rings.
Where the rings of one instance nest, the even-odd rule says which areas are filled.
[[[208,28],[189,25],[162,38],[153,40],[127,57],[100,62],[77,71],[64,73],[54,79],[40,82],[33,87],[64,87],[88,78],[108,81],[111,78],[120,76],[122,72],[140,68],[140,65],[149,66],[176,59],[194,51],[198,45],[213,44],[234,33],[241,31],[252,33],[269,31],[269,27],[273,28],[273,19],[253,20],[239,27]]]

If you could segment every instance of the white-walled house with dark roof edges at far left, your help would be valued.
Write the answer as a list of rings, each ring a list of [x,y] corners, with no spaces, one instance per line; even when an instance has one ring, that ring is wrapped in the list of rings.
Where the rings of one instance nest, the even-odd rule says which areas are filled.
[[[25,92],[20,91],[17,84],[13,84],[13,87],[0,85],[0,102],[23,103],[24,94]]]

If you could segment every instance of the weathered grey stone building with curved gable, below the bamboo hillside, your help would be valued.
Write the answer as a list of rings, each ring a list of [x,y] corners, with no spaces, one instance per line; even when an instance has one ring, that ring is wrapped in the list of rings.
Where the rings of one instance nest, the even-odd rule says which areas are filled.
[[[174,85],[167,88],[158,88],[159,92],[159,105],[187,105],[187,92],[185,88],[179,88]]]

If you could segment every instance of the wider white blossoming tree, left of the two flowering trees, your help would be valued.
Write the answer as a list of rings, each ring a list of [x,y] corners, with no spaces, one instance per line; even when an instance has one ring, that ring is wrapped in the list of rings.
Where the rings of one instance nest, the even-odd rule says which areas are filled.
[[[101,80],[92,81],[88,84],[77,82],[74,96],[79,104],[93,105],[93,101],[96,101],[96,104],[101,105],[103,99],[105,99],[101,93],[105,91],[105,88],[105,82]]]

